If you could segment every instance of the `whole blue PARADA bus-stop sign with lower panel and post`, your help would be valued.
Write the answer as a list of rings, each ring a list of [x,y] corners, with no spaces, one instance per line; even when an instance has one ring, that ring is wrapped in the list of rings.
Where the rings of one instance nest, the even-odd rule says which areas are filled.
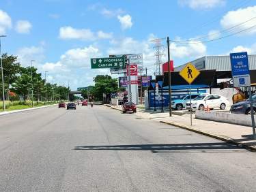
[[[249,97],[250,97],[250,106],[251,106],[251,121],[253,127],[253,138],[256,140],[255,133],[255,119],[253,110],[253,99],[251,95],[251,78],[249,71],[249,63],[248,63],[248,54],[247,52],[236,52],[230,53],[230,63],[232,69],[233,76],[233,86],[248,86],[249,89]]]

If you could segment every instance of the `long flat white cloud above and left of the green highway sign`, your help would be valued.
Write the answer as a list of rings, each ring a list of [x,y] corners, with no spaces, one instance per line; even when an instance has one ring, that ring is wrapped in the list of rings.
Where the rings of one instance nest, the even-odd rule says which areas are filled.
[[[96,39],[111,39],[112,33],[98,31],[92,32],[90,29],[74,29],[73,27],[61,27],[59,29],[59,38],[61,39],[81,39],[94,41]]]

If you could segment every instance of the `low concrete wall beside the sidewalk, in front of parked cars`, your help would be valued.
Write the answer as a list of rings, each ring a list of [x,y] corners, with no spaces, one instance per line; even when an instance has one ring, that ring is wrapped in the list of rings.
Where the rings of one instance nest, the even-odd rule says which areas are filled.
[[[251,115],[246,115],[246,114],[197,111],[195,113],[195,118],[208,120],[208,121],[231,123],[235,125],[244,125],[249,127],[252,126]]]

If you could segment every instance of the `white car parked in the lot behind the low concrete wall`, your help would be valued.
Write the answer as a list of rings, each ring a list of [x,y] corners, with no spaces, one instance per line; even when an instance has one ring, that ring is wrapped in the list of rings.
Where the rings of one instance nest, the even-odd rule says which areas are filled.
[[[199,95],[191,101],[192,110],[203,110],[205,108],[218,108],[225,110],[229,106],[229,100],[226,97],[216,94]],[[186,109],[190,110],[190,102],[186,103]]]

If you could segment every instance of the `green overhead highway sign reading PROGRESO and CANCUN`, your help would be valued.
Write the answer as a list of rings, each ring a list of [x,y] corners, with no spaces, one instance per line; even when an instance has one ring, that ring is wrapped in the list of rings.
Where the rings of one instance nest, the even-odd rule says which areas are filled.
[[[91,69],[125,67],[124,57],[91,58]]]

